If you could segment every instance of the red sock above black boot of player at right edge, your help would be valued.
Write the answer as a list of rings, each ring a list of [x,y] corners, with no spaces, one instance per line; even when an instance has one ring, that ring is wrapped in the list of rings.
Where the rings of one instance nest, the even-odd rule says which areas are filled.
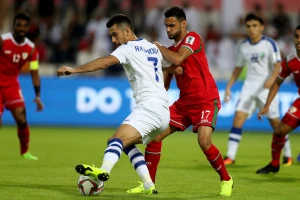
[[[278,137],[277,135],[273,134],[272,140],[272,161],[271,165],[274,167],[278,167],[280,164],[280,154],[281,150],[285,144],[285,137]]]

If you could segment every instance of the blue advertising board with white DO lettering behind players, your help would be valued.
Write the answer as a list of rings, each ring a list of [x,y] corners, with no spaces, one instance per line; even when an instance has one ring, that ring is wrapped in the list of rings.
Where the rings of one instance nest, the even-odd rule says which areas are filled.
[[[84,126],[116,127],[131,112],[135,103],[126,78],[94,77],[42,77],[42,100],[45,109],[36,112],[32,101],[34,91],[30,76],[21,76],[20,84],[26,101],[27,118],[31,125],[43,126]],[[232,125],[235,105],[242,83],[232,88],[232,100],[224,103],[226,82],[217,82],[222,108],[218,115],[217,129],[228,130]],[[170,104],[179,95],[176,84],[172,82],[169,90]],[[281,116],[298,97],[293,83],[284,83],[279,92]],[[4,112],[3,124],[14,124],[8,111]],[[244,125],[246,130],[271,130],[268,120],[260,122],[256,115]]]

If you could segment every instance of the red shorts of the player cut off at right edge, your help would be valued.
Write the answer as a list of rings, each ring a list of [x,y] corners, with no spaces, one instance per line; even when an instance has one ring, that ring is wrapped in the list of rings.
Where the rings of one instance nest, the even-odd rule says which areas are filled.
[[[294,101],[289,111],[283,116],[281,122],[294,129],[300,125],[300,98]]]

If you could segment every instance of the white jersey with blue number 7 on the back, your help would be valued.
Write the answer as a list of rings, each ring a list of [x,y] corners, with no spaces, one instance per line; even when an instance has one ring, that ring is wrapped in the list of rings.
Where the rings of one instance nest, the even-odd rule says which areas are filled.
[[[170,63],[163,59],[154,44],[145,39],[129,41],[111,55],[117,57],[123,65],[136,103],[153,97],[168,103],[162,65],[169,67]]]

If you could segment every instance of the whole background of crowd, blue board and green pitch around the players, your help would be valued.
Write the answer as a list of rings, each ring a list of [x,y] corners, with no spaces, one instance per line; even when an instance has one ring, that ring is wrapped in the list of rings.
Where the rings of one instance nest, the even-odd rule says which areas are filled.
[[[186,7],[185,11],[192,26],[190,30],[198,30],[205,41],[210,70],[217,80],[222,100],[225,83],[234,67],[237,44],[245,37],[241,19],[247,12],[260,13],[268,20],[266,34],[278,41],[283,57],[294,48],[291,33],[300,23],[298,0],[189,2],[192,6]],[[278,2],[284,5],[282,14],[278,13]],[[1,200],[82,200],[74,166],[79,163],[101,165],[107,138],[134,105],[120,66],[101,73],[59,79],[55,72],[62,65],[76,66],[109,54],[114,47],[105,23],[117,12],[126,13],[134,19],[139,37],[168,45],[170,41],[164,39],[166,34],[162,21],[163,11],[169,5],[183,5],[183,1],[0,1],[1,34],[11,31],[17,11],[26,10],[33,17],[29,37],[40,51],[41,96],[45,104],[43,112],[35,112],[32,102],[34,91],[28,69],[24,66],[20,82],[30,125],[30,152],[39,160],[20,158],[17,129],[10,113],[5,112],[4,125],[0,130]],[[213,142],[223,156],[242,79],[243,76],[233,87],[233,101],[222,105],[218,127],[213,134]],[[169,94],[171,102],[174,101],[178,95],[175,83]],[[280,91],[281,114],[297,96],[292,80],[283,85]],[[255,175],[255,171],[270,160],[272,131],[267,120],[258,122],[255,117],[247,121],[245,129],[248,131],[243,133],[236,163],[227,167],[235,181],[230,200],[299,200],[300,171],[296,157],[300,134],[290,135],[293,165],[281,166],[276,175],[260,176]],[[267,131],[266,134],[264,131]],[[137,186],[139,177],[127,156],[122,155],[111,179],[106,182],[104,192],[93,199],[224,199],[219,197],[219,177],[199,149],[196,138],[191,131],[185,131],[164,140],[156,178],[158,196],[141,197],[125,193]],[[139,148],[144,152],[144,145],[139,145]]]

